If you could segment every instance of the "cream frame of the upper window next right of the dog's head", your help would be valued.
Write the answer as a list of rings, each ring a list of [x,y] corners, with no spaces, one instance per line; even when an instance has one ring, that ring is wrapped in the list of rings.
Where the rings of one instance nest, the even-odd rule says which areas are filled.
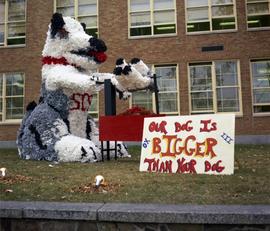
[[[145,26],[135,26],[132,27],[131,26],[131,9],[130,9],[130,2],[131,0],[128,0],[128,39],[140,39],[140,38],[157,38],[157,37],[173,37],[177,35],[177,7],[176,7],[176,1],[177,0],[173,0],[174,3],[174,8],[166,8],[166,9],[158,9],[158,10],[154,10],[154,4],[153,1],[154,0],[148,0],[150,2],[150,9],[149,10],[141,10],[141,11],[134,11],[134,12],[150,12],[150,25],[148,25],[148,27],[151,27],[151,34],[150,35],[136,35],[136,36],[132,36],[130,33],[131,28],[143,28]],[[167,34],[154,34],[154,26],[155,25],[166,25],[168,23],[164,23],[164,24],[154,24],[154,12],[158,11],[158,12],[166,12],[168,10],[174,10],[174,20],[175,20],[175,33],[167,33]]]

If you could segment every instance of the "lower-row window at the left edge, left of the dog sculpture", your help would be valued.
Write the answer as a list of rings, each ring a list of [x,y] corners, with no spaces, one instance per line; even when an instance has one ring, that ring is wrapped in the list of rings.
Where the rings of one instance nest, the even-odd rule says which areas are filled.
[[[24,74],[0,73],[0,123],[22,119]]]

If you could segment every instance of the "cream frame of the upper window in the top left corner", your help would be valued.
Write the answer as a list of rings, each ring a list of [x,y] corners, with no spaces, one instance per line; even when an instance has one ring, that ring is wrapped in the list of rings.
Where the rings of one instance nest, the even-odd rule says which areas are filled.
[[[9,15],[9,12],[8,12],[8,2],[9,0],[4,0],[4,21],[3,23],[0,22],[0,25],[3,25],[4,27],[4,42],[3,43],[0,43],[2,45],[0,45],[0,49],[1,48],[10,48],[10,47],[25,47],[26,46],[26,22],[27,22],[27,0],[25,0],[25,19],[24,20],[18,20],[18,21],[11,21],[9,22],[8,21],[8,15]],[[25,35],[24,36],[15,36],[15,37],[11,37],[13,39],[16,39],[16,38],[24,38],[24,43],[22,44],[11,44],[11,45],[8,45],[8,27],[9,27],[9,24],[10,23],[24,23],[25,26]]]

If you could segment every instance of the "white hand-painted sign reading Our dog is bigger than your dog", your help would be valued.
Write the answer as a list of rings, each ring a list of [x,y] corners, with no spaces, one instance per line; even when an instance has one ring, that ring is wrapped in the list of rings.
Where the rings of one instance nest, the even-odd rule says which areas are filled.
[[[144,119],[140,171],[233,174],[235,115]]]

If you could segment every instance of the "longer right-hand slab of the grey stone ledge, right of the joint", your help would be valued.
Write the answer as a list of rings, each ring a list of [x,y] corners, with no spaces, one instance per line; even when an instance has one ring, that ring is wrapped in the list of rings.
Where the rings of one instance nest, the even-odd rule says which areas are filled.
[[[100,221],[181,224],[270,224],[270,206],[105,204]]]

